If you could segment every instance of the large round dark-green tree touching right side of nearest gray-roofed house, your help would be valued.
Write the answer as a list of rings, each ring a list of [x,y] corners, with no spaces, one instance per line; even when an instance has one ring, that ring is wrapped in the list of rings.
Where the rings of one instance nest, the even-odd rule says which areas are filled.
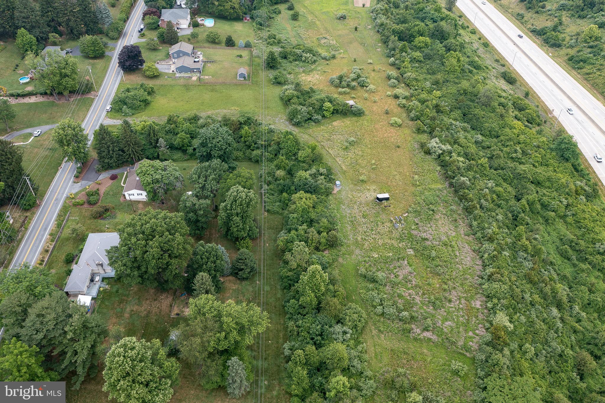
[[[183,214],[146,209],[120,228],[120,243],[108,249],[110,266],[126,284],[170,289],[183,284],[191,254]]]

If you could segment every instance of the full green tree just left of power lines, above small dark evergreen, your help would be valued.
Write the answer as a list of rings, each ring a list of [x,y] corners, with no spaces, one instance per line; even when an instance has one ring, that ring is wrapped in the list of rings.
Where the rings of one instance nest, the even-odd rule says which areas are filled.
[[[235,185],[227,193],[218,214],[218,228],[232,240],[258,237],[254,214],[258,206],[258,196],[249,189]]]

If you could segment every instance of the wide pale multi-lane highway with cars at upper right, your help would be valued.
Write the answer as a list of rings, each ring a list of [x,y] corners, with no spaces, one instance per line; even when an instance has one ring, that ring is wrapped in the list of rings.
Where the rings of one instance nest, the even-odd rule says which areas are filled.
[[[489,2],[458,0],[457,5],[574,136],[601,182],[605,183],[605,162],[598,163],[594,159],[595,152],[605,158],[605,106],[531,38],[519,38],[521,31]],[[572,108],[574,114],[569,114],[567,108]]]

